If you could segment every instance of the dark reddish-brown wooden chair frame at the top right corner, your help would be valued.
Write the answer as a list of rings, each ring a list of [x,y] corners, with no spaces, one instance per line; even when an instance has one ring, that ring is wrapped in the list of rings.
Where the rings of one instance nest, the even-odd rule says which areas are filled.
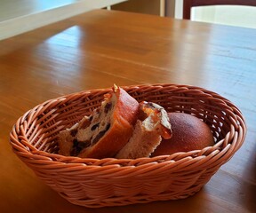
[[[184,0],[183,19],[190,20],[191,8],[210,5],[244,5],[256,6],[256,0]]]

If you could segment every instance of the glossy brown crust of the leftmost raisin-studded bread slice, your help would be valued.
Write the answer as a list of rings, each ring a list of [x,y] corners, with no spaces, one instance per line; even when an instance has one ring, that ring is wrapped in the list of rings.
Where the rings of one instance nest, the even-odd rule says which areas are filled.
[[[60,154],[99,159],[105,157],[114,157],[116,155],[116,153],[128,142],[129,138],[132,136],[133,125],[138,119],[139,103],[136,99],[133,99],[132,96],[124,91],[124,89],[115,85],[112,92],[106,95],[105,101],[102,102],[100,109],[97,109],[96,111],[98,111],[98,113],[99,111],[101,113],[104,112],[104,106],[106,106],[106,103],[111,101],[113,103],[115,102],[115,106],[113,106],[109,128],[103,133],[100,139],[97,140],[96,143],[86,141],[89,143],[89,146],[84,146],[84,148],[82,148],[78,154],[74,154],[74,152],[72,154],[72,147],[74,146],[74,143],[77,142],[77,137],[70,136],[70,129],[64,130],[60,132]],[[96,114],[96,111],[93,113]],[[88,128],[91,127],[89,126]],[[83,142],[78,141],[78,143]]]

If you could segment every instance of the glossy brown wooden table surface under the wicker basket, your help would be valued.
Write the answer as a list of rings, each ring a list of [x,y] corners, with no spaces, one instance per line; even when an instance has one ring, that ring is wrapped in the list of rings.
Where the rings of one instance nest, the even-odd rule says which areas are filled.
[[[0,42],[0,212],[256,212],[256,30],[96,10]],[[76,91],[140,83],[218,92],[244,114],[244,145],[196,195],[124,207],[76,206],[12,153],[28,109]]]

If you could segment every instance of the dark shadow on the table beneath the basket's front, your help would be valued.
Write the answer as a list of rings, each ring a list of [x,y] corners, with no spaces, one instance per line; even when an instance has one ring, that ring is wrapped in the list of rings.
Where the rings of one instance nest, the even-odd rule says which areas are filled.
[[[37,181],[36,181],[37,182]],[[41,180],[38,180],[38,185]],[[203,199],[200,197],[204,197],[204,189],[199,191],[193,196],[190,196],[186,199],[176,200],[176,201],[152,201],[148,203],[139,203],[139,204],[131,204],[125,206],[113,206],[113,207],[102,207],[102,208],[86,208],[83,206],[78,206],[72,204],[69,201],[66,201],[64,198],[60,196],[59,193],[52,190],[51,187],[44,185],[37,187],[36,193],[27,194],[26,201],[22,201],[20,205],[20,213],[25,212],[76,212],[76,213],[128,213],[128,212],[163,212],[163,211],[178,211],[182,212],[201,212],[201,208],[204,208],[202,203]],[[29,199],[28,199],[29,197]],[[200,204],[200,203],[201,204]],[[31,205],[33,203],[33,205]]]

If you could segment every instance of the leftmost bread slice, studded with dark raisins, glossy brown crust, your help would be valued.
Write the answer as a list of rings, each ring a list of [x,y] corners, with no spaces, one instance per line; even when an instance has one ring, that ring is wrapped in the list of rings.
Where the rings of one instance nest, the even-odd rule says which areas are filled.
[[[131,138],[138,116],[138,101],[115,85],[100,108],[60,132],[59,153],[99,159],[114,157]]]

